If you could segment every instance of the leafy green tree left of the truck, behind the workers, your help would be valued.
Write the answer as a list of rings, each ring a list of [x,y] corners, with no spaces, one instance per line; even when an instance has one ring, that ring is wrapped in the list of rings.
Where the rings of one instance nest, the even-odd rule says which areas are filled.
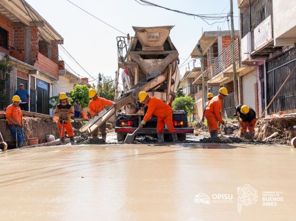
[[[71,96],[71,104],[74,105],[77,100],[80,101],[81,107],[86,108],[88,107],[88,103],[90,101],[89,98],[89,88],[87,85],[80,85],[77,84],[72,91],[69,92]],[[67,93],[68,95],[68,93]]]

